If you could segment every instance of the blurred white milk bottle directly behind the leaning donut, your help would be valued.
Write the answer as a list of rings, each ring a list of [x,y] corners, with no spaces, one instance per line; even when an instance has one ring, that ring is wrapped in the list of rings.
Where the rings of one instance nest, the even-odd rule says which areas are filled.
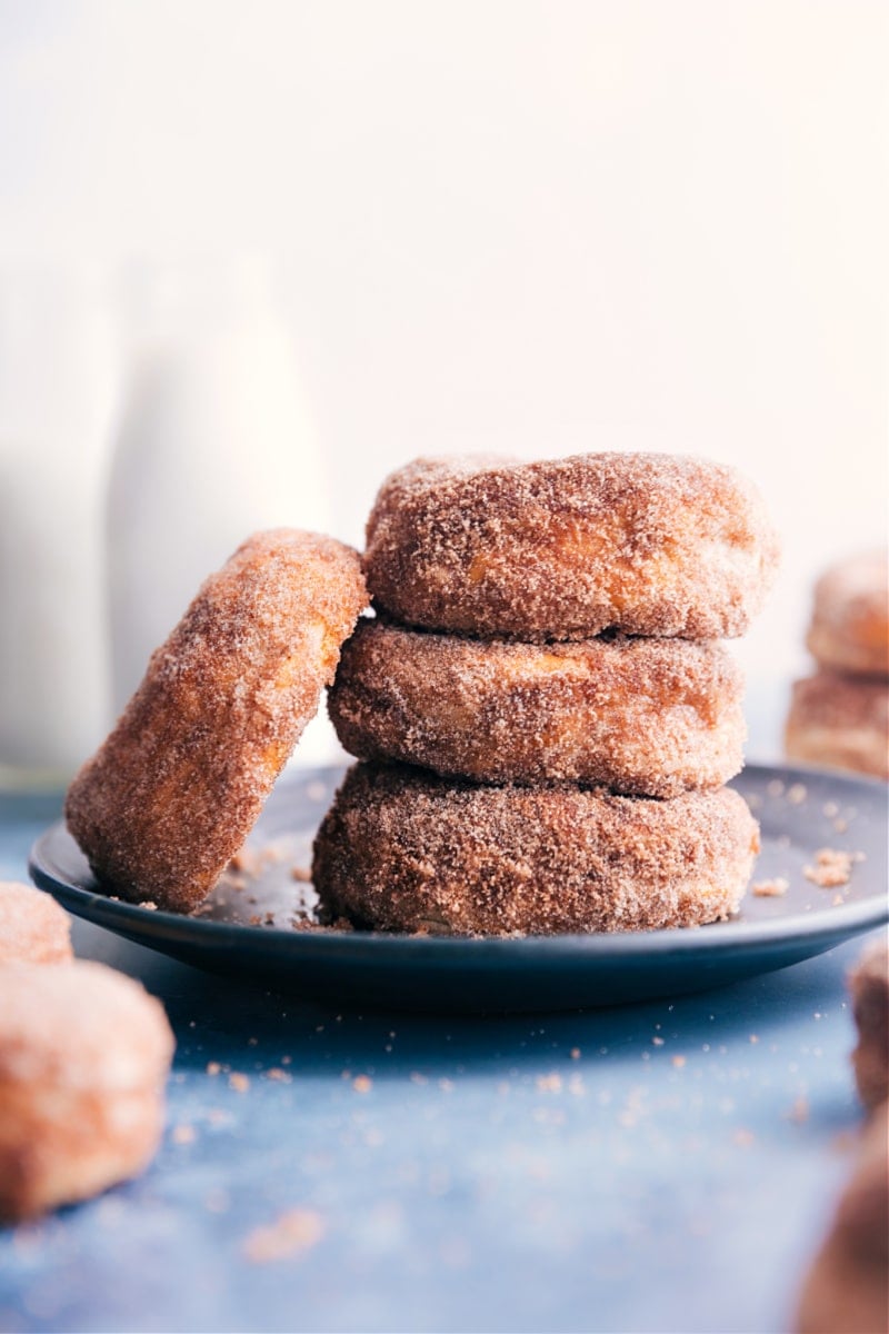
[[[268,271],[253,260],[155,273],[108,500],[117,708],[201,582],[259,528],[327,531],[315,424]]]

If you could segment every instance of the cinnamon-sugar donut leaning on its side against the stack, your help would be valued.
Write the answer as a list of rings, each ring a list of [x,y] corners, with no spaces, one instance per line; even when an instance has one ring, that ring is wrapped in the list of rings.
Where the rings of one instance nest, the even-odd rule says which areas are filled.
[[[360,556],[248,538],[151,658],[75,776],[68,827],[104,892],[188,912],[241,847],[367,604]]]

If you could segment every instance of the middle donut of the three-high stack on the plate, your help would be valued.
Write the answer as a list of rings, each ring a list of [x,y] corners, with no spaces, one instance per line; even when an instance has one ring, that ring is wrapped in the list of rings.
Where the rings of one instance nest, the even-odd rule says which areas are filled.
[[[718,644],[525,644],[361,620],[328,710],[359,759],[488,783],[576,780],[676,796],[742,764],[741,672]]]

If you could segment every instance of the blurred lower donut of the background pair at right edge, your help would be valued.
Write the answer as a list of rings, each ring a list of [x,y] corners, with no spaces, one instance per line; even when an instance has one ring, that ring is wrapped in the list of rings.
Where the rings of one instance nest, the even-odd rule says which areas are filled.
[[[784,748],[809,764],[889,778],[889,682],[826,670],[794,682]]]

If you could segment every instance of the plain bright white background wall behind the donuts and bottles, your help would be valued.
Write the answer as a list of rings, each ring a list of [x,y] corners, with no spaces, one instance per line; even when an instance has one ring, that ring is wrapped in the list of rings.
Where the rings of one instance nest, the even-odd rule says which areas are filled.
[[[0,0],[0,260],[272,256],[356,543],[420,452],[737,464],[778,691],[818,570],[885,534],[888,13]]]

